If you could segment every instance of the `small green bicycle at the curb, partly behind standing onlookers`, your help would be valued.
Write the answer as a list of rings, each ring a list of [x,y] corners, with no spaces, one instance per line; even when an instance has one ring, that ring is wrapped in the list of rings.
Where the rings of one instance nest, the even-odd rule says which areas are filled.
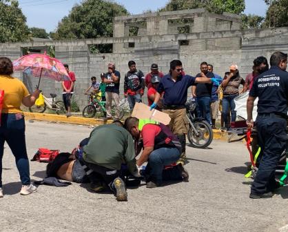
[[[101,96],[94,95],[93,93],[90,93],[90,99],[88,106],[85,106],[82,111],[83,117],[91,118],[91,117],[106,117],[107,111],[105,108],[106,101],[100,100]],[[111,108],[111,114],[113,119],[122,119],[124,117],[124,110],[122,107],[118,107],[118,117],[116,117],[117,108],[116,106],[112,106]]]

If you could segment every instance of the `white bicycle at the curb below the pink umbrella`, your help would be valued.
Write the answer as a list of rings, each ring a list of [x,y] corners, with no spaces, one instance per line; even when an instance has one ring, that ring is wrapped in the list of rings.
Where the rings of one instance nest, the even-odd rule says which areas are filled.
[[[66,110],[65,110],[65,106],[64,106],[64,102],[63,101],[55,101],[55,97],[57,97],[56,94],[54,93],[50,93],[50,96],[52,97],[52,99],[49,99],[48,97],[45,97],[45,95],[43,95],[44,97],[44,104],[43,106],[31,106],[29,107],[29,111],[31,113],[44,113],[45,110],[50,109],[53,111],[56,111],[57,115],[61,115],[61,114],[65,114]]]

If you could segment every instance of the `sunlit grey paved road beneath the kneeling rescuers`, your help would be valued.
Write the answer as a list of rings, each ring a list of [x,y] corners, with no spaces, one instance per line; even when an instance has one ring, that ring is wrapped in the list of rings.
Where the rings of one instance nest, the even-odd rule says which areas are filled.
[[[39,147],[72,151],[91,131],[45,122],[27,122],[26,127],[30,157]],[[188,147],[187,156],[189,183],[129,189],[128,202],[116,202],[113,195],[90,193],[83,184],[39,186],[37,193],[21,196],[6,147],[0,231],[288,231],[286,187],[271,199],[249,199],[243,143],[214,141],[205,150]],[[31,162],[30,173],[39,180],[45,164]]]

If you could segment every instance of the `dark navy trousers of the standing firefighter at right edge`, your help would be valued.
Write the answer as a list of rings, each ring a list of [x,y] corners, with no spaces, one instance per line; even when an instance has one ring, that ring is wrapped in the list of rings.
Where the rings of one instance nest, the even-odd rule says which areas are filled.
[[[286,119],[277,117],[257,117],[257,137],[262,159],[251,186],[251,193],[263,194],[276,188],[275,171],[280,156],[286,149]]]

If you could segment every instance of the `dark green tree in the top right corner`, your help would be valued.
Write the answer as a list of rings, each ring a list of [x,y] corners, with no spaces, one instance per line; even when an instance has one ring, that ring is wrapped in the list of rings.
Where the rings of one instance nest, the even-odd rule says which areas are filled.
[[[288,0],[265,0],[265,2],[269,8],[263,26],[288,26]]]

